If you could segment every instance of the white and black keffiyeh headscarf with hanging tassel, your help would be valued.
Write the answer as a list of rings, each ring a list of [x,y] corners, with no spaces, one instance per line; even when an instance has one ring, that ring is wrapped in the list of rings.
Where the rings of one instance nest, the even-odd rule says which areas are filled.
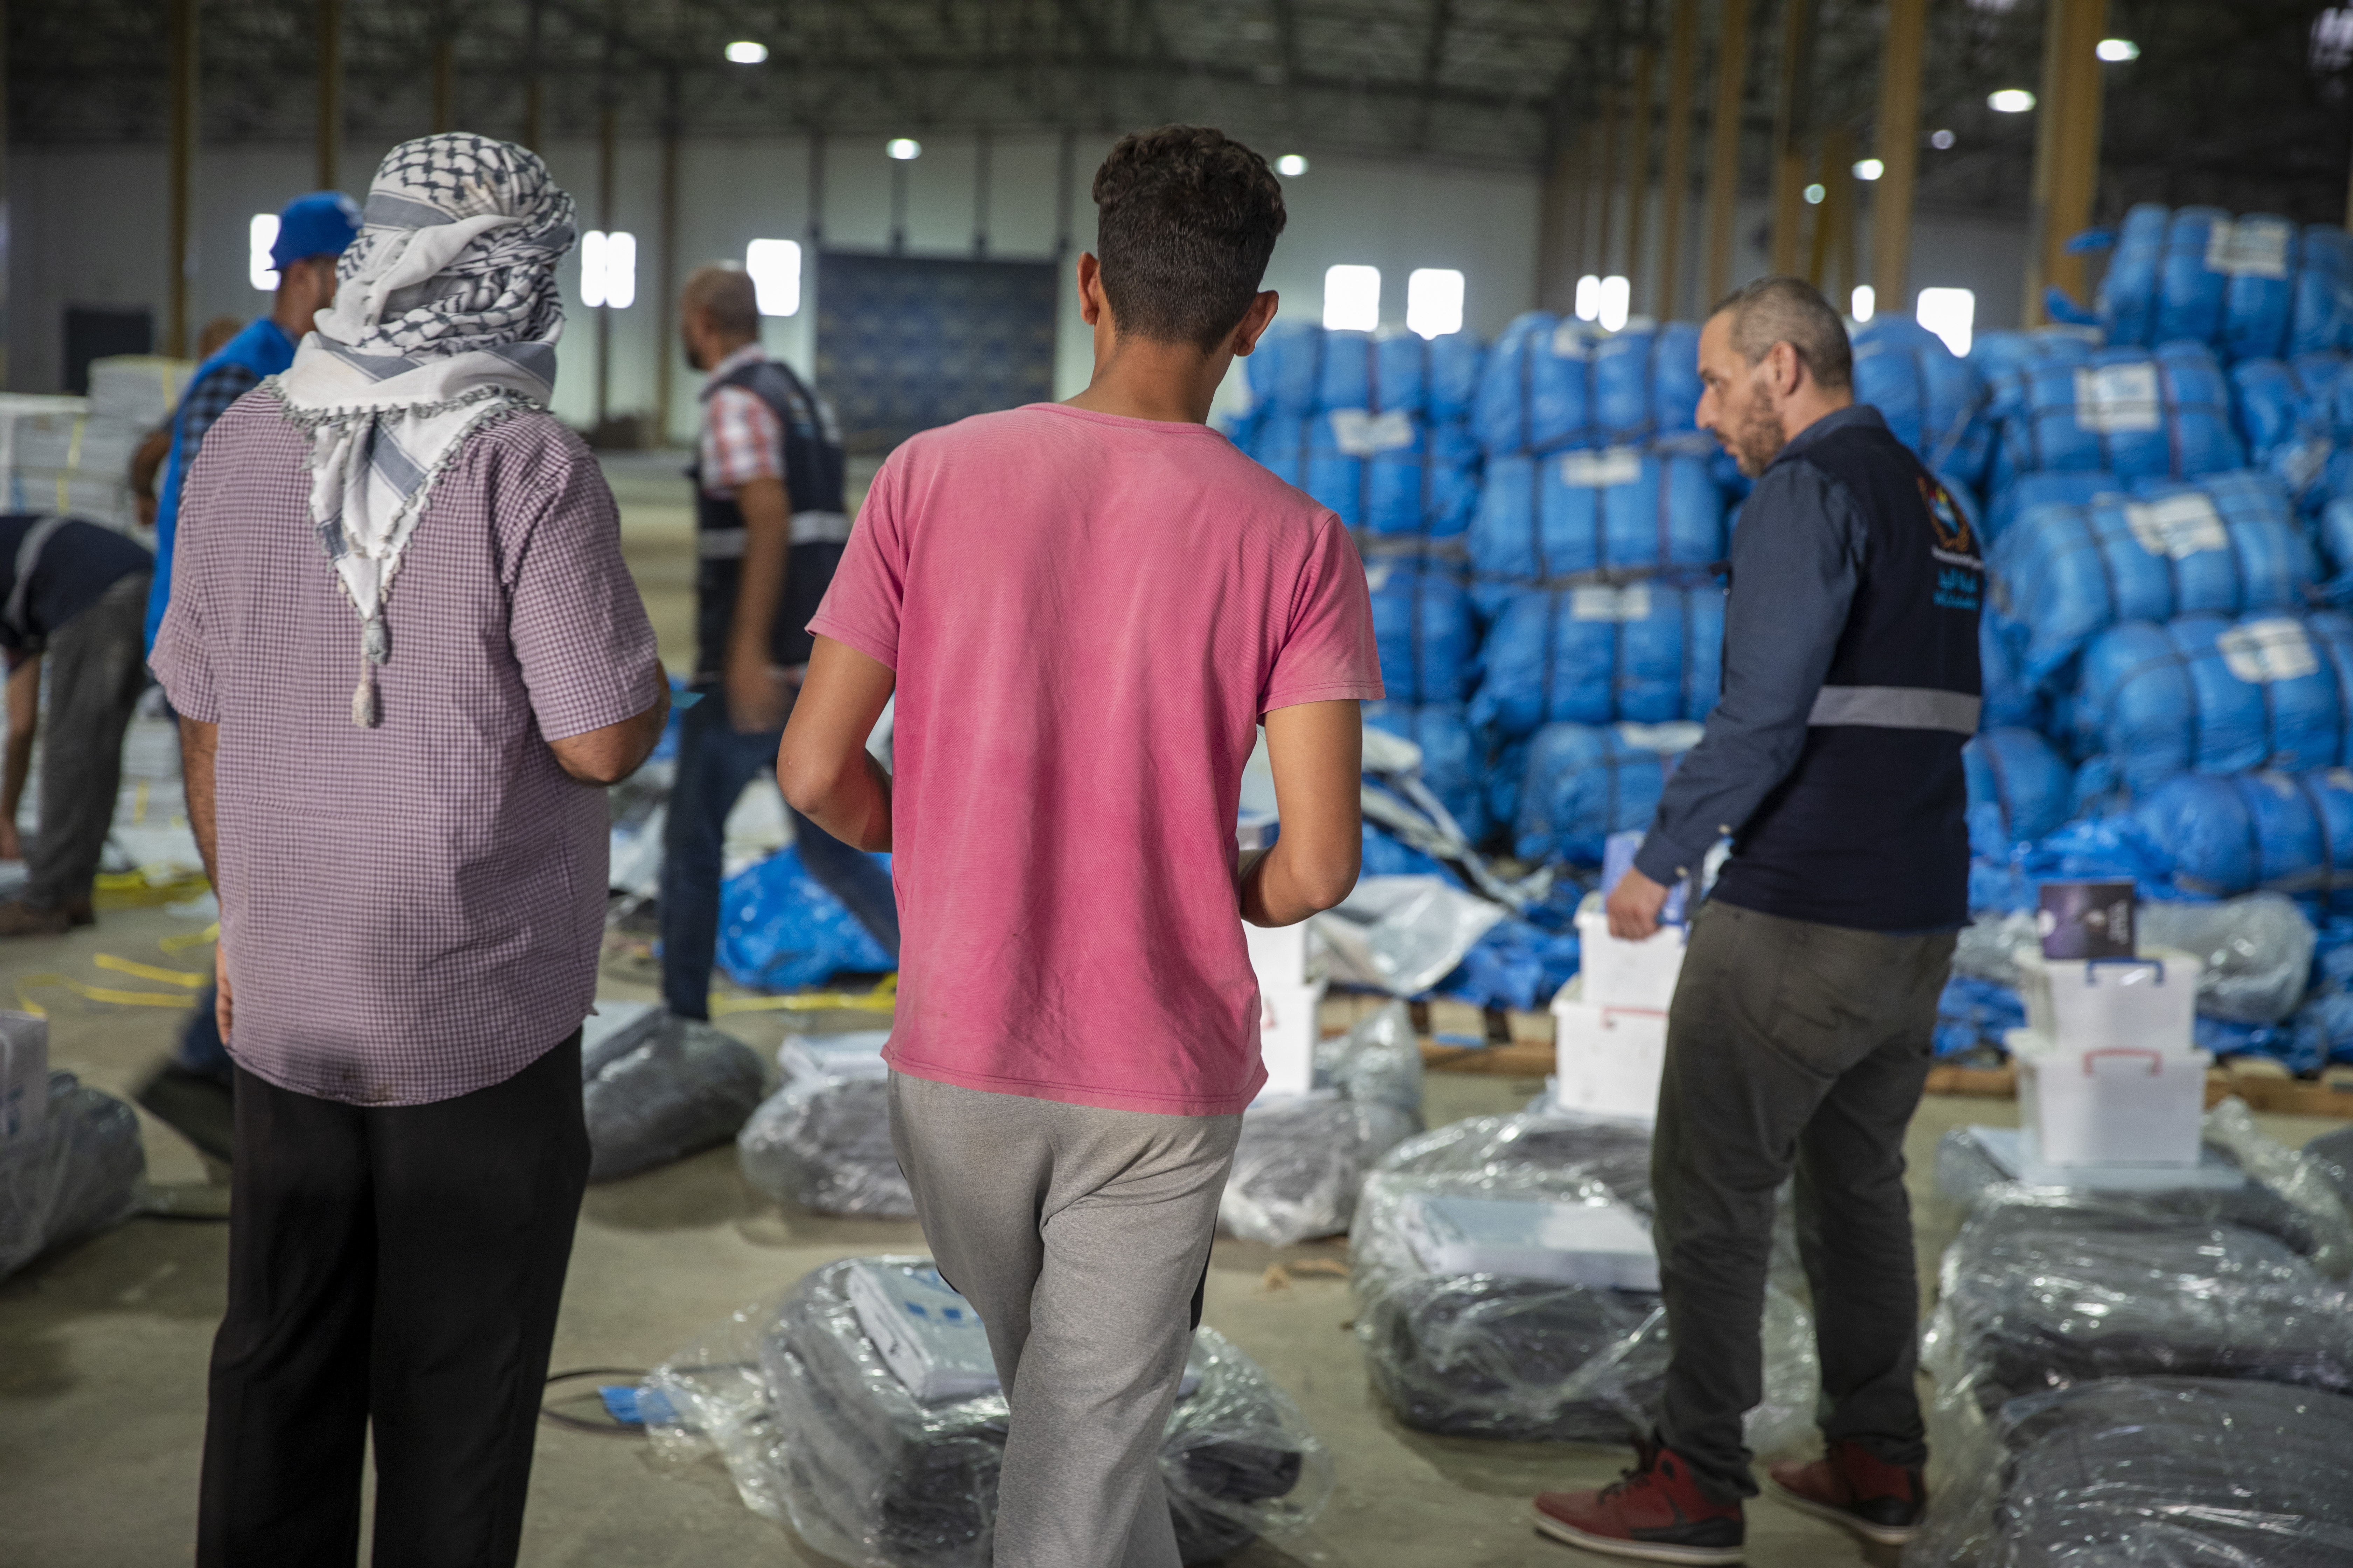
[[[334,306],[271,386],[311,435],[311,522],[360,614],[351,722],[376,722],[384,604],[426,491],[466,437],[544,407],[565,329],[572,197],[536,153],[449,132],[376,167]]]

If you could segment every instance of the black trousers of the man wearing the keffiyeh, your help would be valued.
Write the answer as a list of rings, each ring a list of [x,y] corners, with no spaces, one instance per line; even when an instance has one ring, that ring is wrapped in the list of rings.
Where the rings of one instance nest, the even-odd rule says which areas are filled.
[[[588,1185],[581,1037],[435,1105],[318,1100],[238,1067],[228,1314],[200,1568],[499,1568]]]

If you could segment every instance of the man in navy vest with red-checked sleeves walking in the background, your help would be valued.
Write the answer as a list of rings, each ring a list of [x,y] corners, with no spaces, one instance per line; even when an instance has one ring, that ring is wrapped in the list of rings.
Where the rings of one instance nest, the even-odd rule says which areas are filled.
[[[661,844],[661,997],[711,1016],[727,813],[776,766],[809,668],[809,616],[849,538],[833,409],[760,348],[751,275],[706,266],[680,299],[687,362],[706,371],[694,461],[694,689],[678,719],[678,780]],[[791,806],[786,806],[791,811]],[[793,811],[800,863],[899,959],[889,877]]]

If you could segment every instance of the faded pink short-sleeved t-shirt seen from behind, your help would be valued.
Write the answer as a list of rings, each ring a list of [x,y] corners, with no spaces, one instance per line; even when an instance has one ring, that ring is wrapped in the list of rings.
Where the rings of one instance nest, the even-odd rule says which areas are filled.
[[[899,675],[899,1072],[1242,1110],[1259,987],[1233,825],[1259,715],[1381,696],[1329,510],[1207,425],[1061,404],[925,430],[809,630]]]

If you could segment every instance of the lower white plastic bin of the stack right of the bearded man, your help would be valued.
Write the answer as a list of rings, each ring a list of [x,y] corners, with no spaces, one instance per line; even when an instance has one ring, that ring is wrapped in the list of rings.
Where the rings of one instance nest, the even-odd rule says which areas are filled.
[[[2045,1166],[2198,1164],[2205,1117],[2205,1051],[2078,1046],[2012,1030],[2019,1124]]]

